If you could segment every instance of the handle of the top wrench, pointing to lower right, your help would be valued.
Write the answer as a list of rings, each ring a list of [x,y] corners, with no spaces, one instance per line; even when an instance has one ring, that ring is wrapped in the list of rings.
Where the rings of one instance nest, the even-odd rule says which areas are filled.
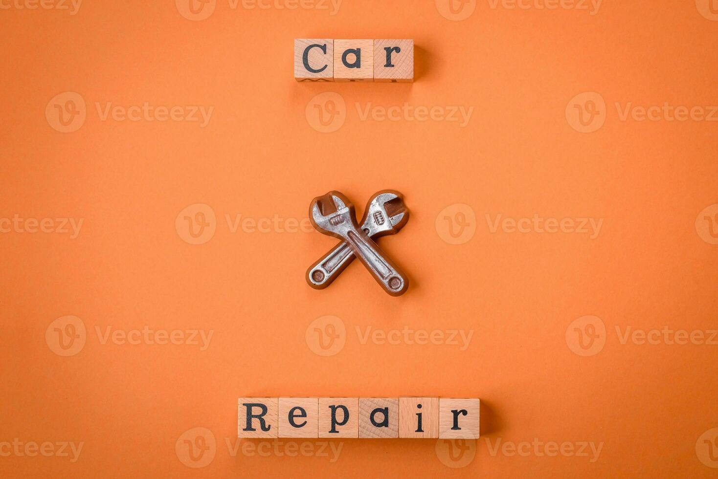
[[[409,281],[406,275],[384,254],[384,252],[361,229],[350,229],[346,233],[349,245],[379,285],[392,296],[406,293]]]

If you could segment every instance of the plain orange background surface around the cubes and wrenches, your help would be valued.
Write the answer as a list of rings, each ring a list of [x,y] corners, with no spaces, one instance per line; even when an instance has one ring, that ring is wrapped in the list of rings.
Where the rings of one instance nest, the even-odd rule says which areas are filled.
[[[696,440],[718,426],[718,346],[620,343],[624,331],[716,328],[717,246],[696,215],[718,202],[715,123],[621,121],[615,103],[716,105],[718,22],[693,1],[609,1],[588,11],[492,9],[460,22],[433,1],[345,0],[340,11],[230,9],[191,22],[172,1],[83,2],[0,11],[0,217],[83,218],[79,236],[0,235],[0,442],[84,442],[67,457],[0,457],[7,477],[714,477]],[[297,83],[295,37],[413,38],[416,82]],[[73,133],[45,108],[87,103]],[[335,92],[346,121],[315,131],[307,103]],[[605,125],[567,121],[597,92]],[[206,105],[210,123],[101,121],[105,105]],[[470,123],[360,120],[355,103],[474,107]],[[307,217],[337,189],[358,214],[398,189],[411,219],[381,247],[411,278],[391,298],[355,262],[312,290],[308,265],[335,245],[317,232],[230,232],[235,217]],[[190,245],[175,218],[210,205],[214,237]],[[475,236],[442,240],[439,212],[467,204]],[[485,215],[603,218],[600,235],[492,233]],[[55,354],[56,318],[87,328]],[[341,318],[345,347],[314,354],[307,326]],[[595,356],[567,328],[606,326]],[[190,345],[102,344],[105,331],[213,330]],[[360,343],[355,327],[473,331],[470,346]],[[339,459],[232,455],[240,396],[439,395],[482,399],[482,439],[464,468],[434,440],[345,440]],[[175,452],[205,427],[215,457]],[[490,454],[503,442],[604,442],[600,457]],[[300,441],[301,442],[301,441]]]

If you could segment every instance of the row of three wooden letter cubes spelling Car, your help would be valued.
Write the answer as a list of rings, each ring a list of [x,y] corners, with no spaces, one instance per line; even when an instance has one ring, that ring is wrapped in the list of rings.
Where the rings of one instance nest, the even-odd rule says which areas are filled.
[[[294,40],[298,82],[414,81],[414,40]]]

